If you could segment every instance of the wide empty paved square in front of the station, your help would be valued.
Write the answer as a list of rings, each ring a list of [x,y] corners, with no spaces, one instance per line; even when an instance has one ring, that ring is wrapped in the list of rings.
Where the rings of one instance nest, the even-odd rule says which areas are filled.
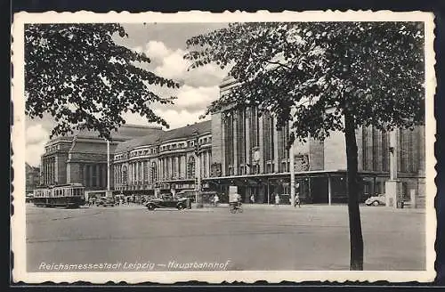
[[[425,213],[362,207],[361,217],[365,270],[425,270]],[[97,264],[71,266],[88,271],[348,270],[347,208],[246,206],[232,215],[225,207],[28,205],[27,253],[28,272],[59,264]]]

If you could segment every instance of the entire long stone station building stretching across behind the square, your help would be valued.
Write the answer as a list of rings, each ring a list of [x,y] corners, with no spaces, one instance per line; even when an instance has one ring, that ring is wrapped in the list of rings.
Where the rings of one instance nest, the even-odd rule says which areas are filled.
[[[221,93],[231,90],[225,78]],[[179,118],[179,117],[178,117]],[[270,204],[272,194],[295,188],[305,204],[347,202],[344,134],[323,141],[308,139],[287,149],[288,126],[276,129],[270,114],[255,108],[223,110],[210,120],[165,131],[160,127],[122,126],[109,143],[79,132],[47,143],[41,183],[82,183],[85,191],[132,195],[202,191],[227,193],[237,186],[244,201]],[[388,181],[400,185],[411,207],[425,207],[425,126],[383,133],[372,126],[356,131],[361,199],[384,194]],[[289,157],[294,155],[294,159]],[[291,161],[294,166],[291,166]]]

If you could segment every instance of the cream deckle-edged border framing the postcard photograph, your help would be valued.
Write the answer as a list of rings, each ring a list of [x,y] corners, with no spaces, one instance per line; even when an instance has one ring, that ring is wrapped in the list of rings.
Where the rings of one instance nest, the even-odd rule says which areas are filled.
[[[154,282],[174,283],[177,281],[199,280],[208,283],[223,281],[243,281],[252,283],[256,280],[266,280],[278,283],[283,280],[301,282],[309,280],[337,281],[360,280],[374,282],[387,280],[390,282],[433,281],[435,277],[435,233],[436,212],[434,198],[437,192],[434,178],[436,159],[434,157],[434,134],[436,133],[433,98],[436,78],[434,72],[435,54],[433,51],[434,23],[431,12],[390,12],[390,11],[360,11],[360,12],[43,12],[14,14],[12,24],[12,167],[14,214],[11,217],[12,251],[14,263],[12,279],[14,282],[41,283],[44,281],[75,282],[79,280],[92,283],[107,281],[125,281],[127,283]],[[26,23],[82,23],[82,22],[236,22],[236,21],[425,21],[425,163],[426,163],[426,271],[223,271],[223,272],[27,272],[26,271],[26,214],[25,214],[25,92],[24,92],[24,25]]]

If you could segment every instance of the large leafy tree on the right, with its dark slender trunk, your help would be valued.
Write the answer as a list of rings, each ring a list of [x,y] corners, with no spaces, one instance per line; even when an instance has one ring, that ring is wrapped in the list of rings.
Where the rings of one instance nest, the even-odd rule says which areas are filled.
[[[347,156],[350,269],[363,269],[355,131],[424,122],[424,27],[415,22],[232,23],[187,41],[191,68],[233,66],[238,86],[207,108],[255,106],[290,121],[290,143],[342,131]]]

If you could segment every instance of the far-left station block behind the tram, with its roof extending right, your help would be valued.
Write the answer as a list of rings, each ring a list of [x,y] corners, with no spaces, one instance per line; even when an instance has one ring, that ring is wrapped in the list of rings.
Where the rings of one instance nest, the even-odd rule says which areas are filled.
[[[159,131],[160,127],[121,126],[116,133],[112,133],[112,141],[109,142],[110,159],[118,143]],[[105,191],[108,183],[107,142],[98,135],[97,132],[83,130],[47,142],[41,157],[40,184],[82,183],[86,191]],[[111,169],[112,166],[111,160]]]

